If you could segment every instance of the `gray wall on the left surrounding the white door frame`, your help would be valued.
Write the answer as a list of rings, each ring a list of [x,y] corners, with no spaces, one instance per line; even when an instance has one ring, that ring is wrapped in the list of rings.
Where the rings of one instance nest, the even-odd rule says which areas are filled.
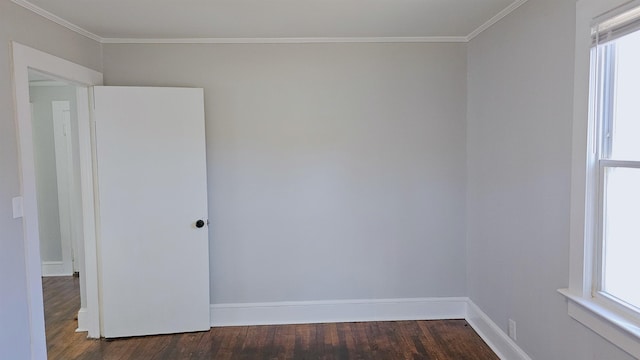
[[[0,0],[0,358],[29,358],[22,221],[11,198],[20,195],[9,41],[15,40],[101,70],[100,44]]]

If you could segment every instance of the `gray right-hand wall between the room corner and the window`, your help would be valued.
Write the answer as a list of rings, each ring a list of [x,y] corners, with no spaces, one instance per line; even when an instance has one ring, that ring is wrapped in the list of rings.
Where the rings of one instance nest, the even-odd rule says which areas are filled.
[[[533,359],[630,359],[567,316],[575,1],[530,0],[468,49],[467,281]]]

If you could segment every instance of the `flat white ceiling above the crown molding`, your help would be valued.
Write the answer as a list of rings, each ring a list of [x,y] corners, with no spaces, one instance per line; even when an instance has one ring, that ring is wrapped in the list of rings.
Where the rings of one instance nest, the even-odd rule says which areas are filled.
[[[462,40],[526,0],[12,0],[103,39]],[[35,5],[35,6],[34,6]],[[42,11],[44,10],[44,11]],[[87,35],[87,34],[85,34]]]

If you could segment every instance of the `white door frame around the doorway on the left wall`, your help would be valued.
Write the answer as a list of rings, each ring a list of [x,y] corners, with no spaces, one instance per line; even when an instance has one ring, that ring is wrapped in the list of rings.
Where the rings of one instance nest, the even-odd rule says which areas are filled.
[[[89,114],[89,87],[102,85],[102,73],[84,66],[11,42],[13,53],[13,88],[15,119],[20,156],[20,185],[24,201],[24,248],[27,280],[31,359],[45,359],[47,346],[42,297],[40,241],[36,200],[33,136],[29,104],[29,69],[49,74],[77,85],[78,133],[81,194],[84,227],[84,269],[86,279],[86,327],[89,337],[100,337],[96,219],[94,206],[94,161]],[[86,100],[85,100],[86,99]],[[84,271],[82,271],[84,270]]]

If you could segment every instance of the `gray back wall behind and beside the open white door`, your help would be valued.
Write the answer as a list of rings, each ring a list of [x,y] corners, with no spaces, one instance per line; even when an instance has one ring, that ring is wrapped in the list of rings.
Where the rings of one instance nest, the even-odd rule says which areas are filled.
[[[464,296],[465,54],[105,45],[104,75],[205,89],[212,303]]]

